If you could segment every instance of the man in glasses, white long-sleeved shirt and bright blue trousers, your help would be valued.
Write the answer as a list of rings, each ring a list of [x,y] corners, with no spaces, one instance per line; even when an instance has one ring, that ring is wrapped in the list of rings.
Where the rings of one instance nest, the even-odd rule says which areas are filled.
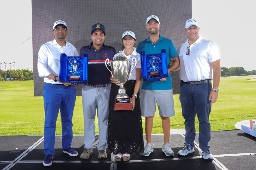
[[[41,46],[38,52],[39,77],[44,78],[44,166],[51,166],[54,154],[56,121],[60,110],[63,152],[70,156],[78,153],[71,147],[73,131],[72,116],[76,102],[76,89],[71,83],[59,80],[60,54],[79,56],[76,48],[65,40],[67,24],[56,21],[52,30],[55,39]],[[74,84],[78,85],[78,84]]]

